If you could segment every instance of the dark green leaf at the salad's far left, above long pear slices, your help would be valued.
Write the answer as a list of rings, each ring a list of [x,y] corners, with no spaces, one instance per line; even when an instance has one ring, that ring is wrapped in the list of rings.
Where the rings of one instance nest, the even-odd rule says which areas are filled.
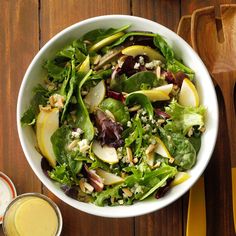
[[[39,105],[45,106],[51,93],[42,85],[38,85],[33,90],[34,96],[31,100],[30,107],[21,117],[22,125],[34,125],[39,113]]]

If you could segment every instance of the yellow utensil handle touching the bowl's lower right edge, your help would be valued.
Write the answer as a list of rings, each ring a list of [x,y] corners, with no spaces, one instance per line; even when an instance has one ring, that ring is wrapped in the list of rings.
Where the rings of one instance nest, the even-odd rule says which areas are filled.
[[[204,177],[190,189],[186,236],[206,235],[206,203]]]

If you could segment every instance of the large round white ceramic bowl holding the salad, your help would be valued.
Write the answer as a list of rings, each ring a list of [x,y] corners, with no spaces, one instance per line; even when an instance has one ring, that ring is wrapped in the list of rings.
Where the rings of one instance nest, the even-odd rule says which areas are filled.
[[[198,154],[196,165],[189,171],[191,178],[184,183],[173,187],[168,193],[156,200],[147,199],[131,206],[98,207],[93,204],[76,201],[64,194],[64,192],[49,178],[41,169],[41,155],[36,151],[35,134],[30,127],[22,127],[20,118],[28,108],[32,97],[32,89],[42,82],[44,72],[43,62],[55,55],[55,53],[74,39],[81,37],[84,33],[97,28],[120,27],[131,24],[129,30],[151,31],[165,37],[173,47],[176,54],[181,57],[186,65],[196,73],[197,89],[201,104],[207,107],[206,132],[202,136],[202,145]],[[57,197],[67,204],[90,214],[104,217],[131,217],[150,213],[161,209],[179,197],[181,197],[197,181],[205,170],[212,155],[218,130],[218,104],[213,83],[206,67],[194,50],[177,34],[166,27],[139,17],[127,15],[108,15],[91,18],[74,24],[54,36],[35,56],[28,67],[21,84],[17,103],[17,127],[20,142],[25,156],[38,178]]]

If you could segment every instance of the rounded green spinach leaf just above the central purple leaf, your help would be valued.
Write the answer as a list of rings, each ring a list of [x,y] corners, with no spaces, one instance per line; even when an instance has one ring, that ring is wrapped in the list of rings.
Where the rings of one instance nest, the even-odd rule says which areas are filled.
[[[122,125],[126,126],[130,120],[130,115],[127,107],[124,104],[114,98],[106,98],[102,101],[99,107],[103,110],[109,110],[115,117],[115,120]]]

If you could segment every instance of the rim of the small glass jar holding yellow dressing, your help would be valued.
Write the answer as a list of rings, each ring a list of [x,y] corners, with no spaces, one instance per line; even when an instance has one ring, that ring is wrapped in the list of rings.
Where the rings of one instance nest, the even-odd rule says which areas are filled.
[[[10,224],[10,227],[13,226],[15,227],[15,221],[14,221],[14,217],[12,217],[12,222],[11,219],[8,219],[9,217],[9,213],[10,214],[15,214],[15,212],[17,211],[18,207],[23,204],[25,202],[25,200],[27,198],[41,198],[43,200],[45,200],[47,203],[50,204],[50,206],[53,208],[53,210],[56,213],[57,216],[57,231],[55,233],[55,236],[59,236],[61,234],[62,231],[62,225],[63,225],[63,220],[62,220],[62,215],[61,215],[61,211],[58,208],[58,206],[48,197],[46,197],[45,195],[41,194],[41,193],[25,193],[25,194],[21,194],[18,197],[16,197],[14,200],[11,201],[11,203],[8,205],[8,207],[6,208],[6,211],[4,213],[3,216],[3,223],[2,223],[2,227],[3,227],[3,232],[6,236],[11,236],[8,234],[8,224]],[[11,212],[13,211],[13,212]],[[7,224],[7,220],[8,222],[10,221],[10,223]]]

